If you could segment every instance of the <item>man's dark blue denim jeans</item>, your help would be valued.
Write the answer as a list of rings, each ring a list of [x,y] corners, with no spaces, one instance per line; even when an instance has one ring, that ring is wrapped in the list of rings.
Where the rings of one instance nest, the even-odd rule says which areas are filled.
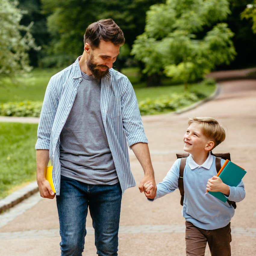
[[[82,256],[88,206],[100,256],[116,256],[122,190],[114,185],[90,185],[61,176],[56,196],[60,222],[61,256]]]

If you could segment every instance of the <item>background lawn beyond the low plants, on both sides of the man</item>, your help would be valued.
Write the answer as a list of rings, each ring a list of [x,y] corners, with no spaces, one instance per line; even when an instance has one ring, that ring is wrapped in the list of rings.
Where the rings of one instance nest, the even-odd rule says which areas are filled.
[[[0,103],[8,101],[43,101],[45,89],[52,75],[57,73],[57,69],[34,69],[28,77],[19,78],[19,83],[14,85],[11,80],[2,80],[0,85]],[[171,93],[179,93],[184,91],[182,84],[173,85],[170,79],[166,78],[162,81],[162,86],[146,87],[146,82],[140,82],[139,70],[136,67],[125,68],[122,72],[128,76],[135,90],[138,102],[145,99],[156,99],[163,95]],[[214,92],[214,85],[203,85],[194,83],[189,89],[201,91],[205,95],[211,95]]]

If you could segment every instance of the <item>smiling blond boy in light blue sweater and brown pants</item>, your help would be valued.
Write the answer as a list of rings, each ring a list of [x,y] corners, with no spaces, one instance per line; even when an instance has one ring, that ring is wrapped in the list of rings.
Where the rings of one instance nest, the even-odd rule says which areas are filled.
[[[190,153],[183,174],[182,215],[186,220],[186,255],[204,255],[208,242],[212,256],[229,256],[230,220],[235,209],[206,190],[222,192],[230,201],[239,202],[245,198],[244,184],[241,181],[237,187],[231,187],[216,176],[216,157],[210,151],[225,139],[225,131],[217,120],[211,117],[194,117],[189,119],[188,124],[183,137],[183,149]],[[177,159],[163,181],[157,185],[154,200],[178,188],[180,162],[181,158]],[[224,162],[221,159],[221,165]],[[150,182],[144,183],[145,193],[150,193],[151,187]]]

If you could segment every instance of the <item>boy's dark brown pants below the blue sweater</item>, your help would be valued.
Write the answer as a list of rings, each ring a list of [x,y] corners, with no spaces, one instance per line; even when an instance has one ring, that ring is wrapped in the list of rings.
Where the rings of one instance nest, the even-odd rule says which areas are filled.
[[[223,228],[213,230],[200,229],[188,221],[185,224],[187,256],[204,256],[207,242],[211,256],[231,256],[230,223]]]

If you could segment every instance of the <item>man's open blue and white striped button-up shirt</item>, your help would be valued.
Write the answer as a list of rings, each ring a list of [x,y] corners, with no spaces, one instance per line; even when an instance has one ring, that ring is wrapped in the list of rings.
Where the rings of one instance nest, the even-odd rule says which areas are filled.
[[[61,180],[59,136],[82,81],[79,59],[51,77],[39,119],[35,148],[49,150],[56,195],[60,194]],[[127,143],[131,147],[135,143],[148,141],[133,86],[126,76],[112,68],[101,79],[100,108],[109,148],[124,192],[136,185],[130,170]]]

